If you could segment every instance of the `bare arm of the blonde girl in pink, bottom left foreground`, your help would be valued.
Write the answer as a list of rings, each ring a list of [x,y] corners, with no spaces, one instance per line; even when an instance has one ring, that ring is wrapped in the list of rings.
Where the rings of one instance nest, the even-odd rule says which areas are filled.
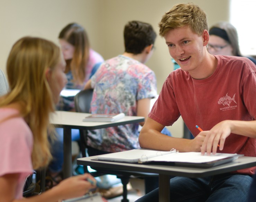
[[[86,179],[90,178],[93,182],[96,181],[90,174],[77,175],[69,177],[63,180],[60,184],[52,189],[36,196],[32,196],[26,199],[17,200],[14,199],[17,182],[19,179],[18,173],[6,174],[0,177],[0,201],[4,202],[57,202],[63,199],[70,199],[84,195],[90,189],[94,188]]]

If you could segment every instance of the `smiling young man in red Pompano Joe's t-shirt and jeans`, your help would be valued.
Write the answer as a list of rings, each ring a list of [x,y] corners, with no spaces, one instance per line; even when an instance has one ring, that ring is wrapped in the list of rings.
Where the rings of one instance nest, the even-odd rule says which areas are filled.
[[[256,67],[244,57],[211,55],[205,12],[193,3],[176,4],[159,23],[169,53],[181,67],[165,80],[141,129],[143,148],[256,156]],[[182,116],[193,140],[162,135]],[[195,126],[204,131],[200,132]],[[241,129],[242,128],[242,129]],[[218,147],[218,144],[220,145]],[[255,167],[204,178],[174,177],[171,201],[246,201]],[[158,201],[158,189],[139,200]]]

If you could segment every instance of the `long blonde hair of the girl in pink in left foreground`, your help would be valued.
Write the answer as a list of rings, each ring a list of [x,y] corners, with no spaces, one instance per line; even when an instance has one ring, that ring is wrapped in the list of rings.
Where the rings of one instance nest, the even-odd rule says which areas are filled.
[[[34,137],[31,155],[34,169],[46,166],[52,157],[47,129],[55,105],[46,70],[57,65],[60,53],[60,48],[51,41],[24,37],[13,45],[7,60],[10,92],[0,100],[0,107],[21,106],[20,116],[24,117]]]

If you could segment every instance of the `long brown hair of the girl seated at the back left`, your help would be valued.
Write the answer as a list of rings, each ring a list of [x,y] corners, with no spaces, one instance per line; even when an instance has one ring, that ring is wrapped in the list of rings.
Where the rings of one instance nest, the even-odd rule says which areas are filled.
[[[90,49],[85,29],[77,23],[70,23],[61,30],[58,38],[75,47],[73,58],[66,61],[66,73],[71,70],[74,83],[83,84]]]

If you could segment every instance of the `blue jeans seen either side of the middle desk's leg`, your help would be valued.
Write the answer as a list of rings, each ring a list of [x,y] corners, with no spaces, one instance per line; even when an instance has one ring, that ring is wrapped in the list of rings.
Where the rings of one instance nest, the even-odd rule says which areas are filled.
[[[63,165],[63,128],[56,128],[57,140],[51,142],[53,160],[49,164],[51,172],[60,172]],[[71,129],[72,141],[80,140],[79,129]]]

